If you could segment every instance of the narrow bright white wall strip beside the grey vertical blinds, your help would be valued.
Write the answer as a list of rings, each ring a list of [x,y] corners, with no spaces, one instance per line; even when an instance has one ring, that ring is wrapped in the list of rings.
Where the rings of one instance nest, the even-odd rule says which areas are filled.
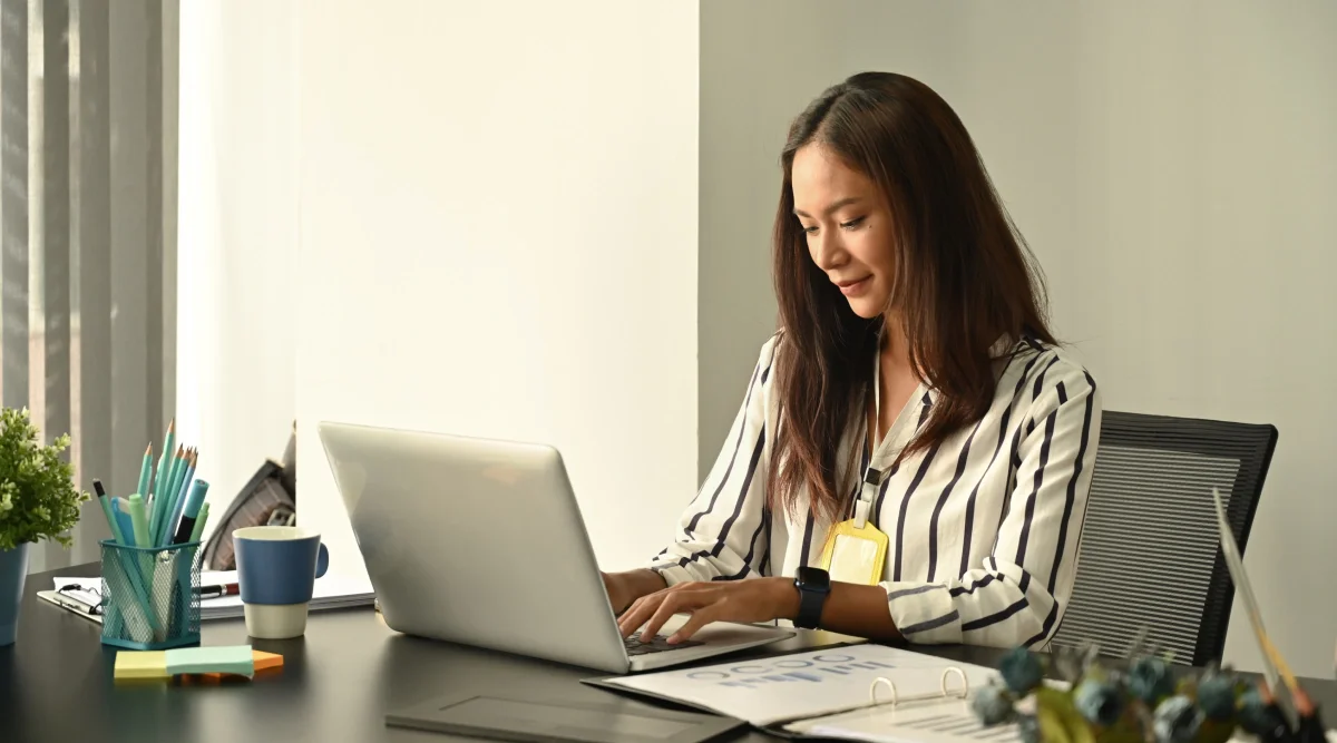
[[[211,525],[295,412],[294,11],[180,4],[176,428],[201,449]]]

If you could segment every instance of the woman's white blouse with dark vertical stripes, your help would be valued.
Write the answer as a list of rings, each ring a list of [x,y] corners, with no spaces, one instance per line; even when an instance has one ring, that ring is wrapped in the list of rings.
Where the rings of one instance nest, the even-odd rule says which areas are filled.
[[[673,585],[793,576],[816,565],[832,523],[804,504],[790,518],[766,505],[779,396],[775,345],[762,347],[742,408],[677,540],[650,568]],[[997,392],[977,424],[893,469],[869,512],[886,533],[881,585],[898,631],[915,643],[1044,647],[1072,593],[1100,432],[1100,396],[1066,351],[1023,341],[999,349]],[[928,418],[937,393],[910,396],[888,434],[892,457]],[[837,462],[862,450],[841,481],[852,510],[868,465],[868,424],[850,426]]]

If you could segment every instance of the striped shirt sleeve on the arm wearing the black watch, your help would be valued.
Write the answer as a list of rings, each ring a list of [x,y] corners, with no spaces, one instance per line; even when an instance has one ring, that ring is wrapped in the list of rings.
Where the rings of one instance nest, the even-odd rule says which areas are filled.
[[[1072,593],[1100,432],[1095,380],[1056,355],[1039,365],[1016,430],[1016,480],[995,547],[945,583],[889,581],[892,620],[913,643],[1044,647]]]

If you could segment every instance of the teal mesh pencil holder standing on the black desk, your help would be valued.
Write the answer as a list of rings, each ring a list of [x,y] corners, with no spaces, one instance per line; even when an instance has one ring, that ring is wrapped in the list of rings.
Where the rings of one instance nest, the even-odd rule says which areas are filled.
[[[132,649],[199,644],[199,543],[102,543],[102,641]]]

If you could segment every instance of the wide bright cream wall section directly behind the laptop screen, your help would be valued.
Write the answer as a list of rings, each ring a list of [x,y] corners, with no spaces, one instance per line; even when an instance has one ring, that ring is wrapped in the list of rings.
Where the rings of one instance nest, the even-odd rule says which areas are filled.
[[[603,564],[671,539],[698,485],[697,17],[298,3],[299,508],[336,568],[360,564],[321,420],[551,442]]]

